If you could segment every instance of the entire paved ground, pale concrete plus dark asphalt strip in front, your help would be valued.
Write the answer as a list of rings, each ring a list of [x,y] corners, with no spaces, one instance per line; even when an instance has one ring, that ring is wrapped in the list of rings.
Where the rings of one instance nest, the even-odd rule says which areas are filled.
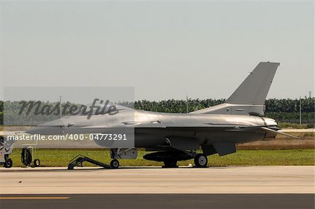
[[[314,168],[0,168],[0,208],[309,209]]]

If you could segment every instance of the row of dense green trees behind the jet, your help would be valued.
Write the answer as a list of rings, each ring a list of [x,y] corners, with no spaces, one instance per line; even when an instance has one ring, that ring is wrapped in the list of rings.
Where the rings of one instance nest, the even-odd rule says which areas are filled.
[[[176,100],[169,99],[163,101],[148,101],[141,100],[135,101],[134,103],[123,103],[126,106],[134,106],[137,110],[148,110],[153,112],[161,113],[186,113],[200,110],[203,108],[208,108],[211,106],[216,106],[218,104],[224,103],[225,99],[188,99],[186,100]],[[45,102],[45,104],[55,103]],[[3,106],[6,106],[5,114],[3,114]],[[304,124],[314,124],[314,105],[315,98],[304,98],[301,99],[302,107],[302,123]],[[9,106],[9,108],[8,108]],[[289,123],[299,123],[300,122],[300,100],[299,99],[267,99],[265,101],[265,116],[271,117],[277,122],[289,122]],[[3,117],[5,115],[14,115],[16,120],[19,120],[19,101],[0,101],[0,124],[3,124]],[[10,113],[9,113],[10,112]],[[54,120],[57,115],[47,115],[45,120]]]

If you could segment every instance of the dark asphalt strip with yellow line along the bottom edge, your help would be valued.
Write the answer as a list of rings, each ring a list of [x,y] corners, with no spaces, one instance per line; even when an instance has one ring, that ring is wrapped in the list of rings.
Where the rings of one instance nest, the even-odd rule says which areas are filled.
[[[0,198],[1,209],[314,209],[314,194],[51,194]]]

